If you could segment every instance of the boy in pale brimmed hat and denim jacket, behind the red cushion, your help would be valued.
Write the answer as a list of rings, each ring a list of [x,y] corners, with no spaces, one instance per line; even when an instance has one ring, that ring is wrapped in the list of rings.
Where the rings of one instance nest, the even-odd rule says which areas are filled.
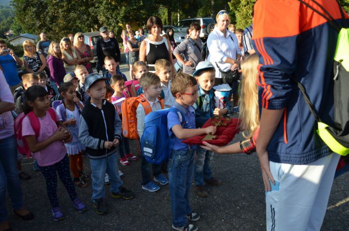
[[[195,107],[195,122],[196,127],[202,125],[213,116],[225,115],[230,109],[230,104],[227,102],[226,108],[221,109],[215,106],[219,99],[214,95],[212,89],[215,79],[214,66],[208,61],[199,62],[192,74],[198,83],[198,98],[194,105]],[[205,150],[200,146],[196,149],[195,163],[195,193],[199,197],[207,197],[208,193],[204,190],[204,184],[220,186],[221,180],[212,177],[211,163],[214,152]]]

